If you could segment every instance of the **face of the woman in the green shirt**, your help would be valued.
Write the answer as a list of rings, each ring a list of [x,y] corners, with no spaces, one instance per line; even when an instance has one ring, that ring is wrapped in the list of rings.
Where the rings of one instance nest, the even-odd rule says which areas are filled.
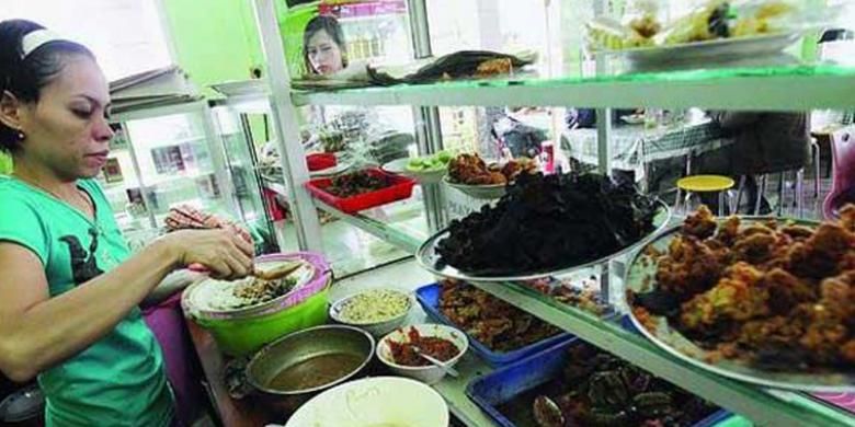
[[[38,102],[19,108],[26,135],[23,155],[64,180],[94,177],[104,166],[113,130],[110,89],[101,68],[83,55],[67,56]]]

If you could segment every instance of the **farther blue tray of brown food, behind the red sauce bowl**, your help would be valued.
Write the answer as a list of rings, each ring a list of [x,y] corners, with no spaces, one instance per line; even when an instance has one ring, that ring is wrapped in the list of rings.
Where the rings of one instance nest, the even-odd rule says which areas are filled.
[[[440,290],[441,290],[441,286],[437,284],[423,286],[415,290],[415,299],[419,300],[419,303],[424,309],[424,312],[428,314],[428,318],[430,318],[434,322],[444,323],[446,325],[457,327],[457,325],[455,325],[454,322],[448,320],[448,318],[446,318],[445,314],[443,314],[440,311]],[[482,343],[472,338],[469,334],[467,334],[466,336],[469,337],[469,348],[471,348],[471,350],[475,351],[475,354],[477,354],[481,359],[483,359],[488,365],[490,365],[493,368],[514,362],[527,356],[546,350],[547,348],[550,348],[559,343],[573,339],[573,335],[563,333],[527,345],[523,348],[513,351],[502,353],[502,351],[491,350],[490,347],[487,347]]]

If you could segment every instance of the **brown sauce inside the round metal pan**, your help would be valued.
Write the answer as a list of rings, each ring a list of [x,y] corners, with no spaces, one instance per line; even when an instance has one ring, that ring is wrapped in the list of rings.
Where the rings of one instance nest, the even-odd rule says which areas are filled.
[[[281,370],[265,386],[281,392],[315,389],[346,377],[363,361],[349,353],[319,355]]]

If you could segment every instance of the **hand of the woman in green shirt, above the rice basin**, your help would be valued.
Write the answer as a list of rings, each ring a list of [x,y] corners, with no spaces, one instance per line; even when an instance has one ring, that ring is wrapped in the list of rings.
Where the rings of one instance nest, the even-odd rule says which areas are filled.
[[[227,230],[180,230],[160,239],[182,267],[202,264],[212,276],[238,279],[252,273],[254,249]]]

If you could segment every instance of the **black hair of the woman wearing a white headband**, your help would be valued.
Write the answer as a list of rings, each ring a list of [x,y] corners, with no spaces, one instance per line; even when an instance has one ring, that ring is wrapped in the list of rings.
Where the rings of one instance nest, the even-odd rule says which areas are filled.
[[[5,91],[19,101],[38,102],[42,89],[62,71],[66,59],[71,55],[94,55],[83,45],[69,41],[50,41],[26,57],[22,41],[25,35],[45,27],[26,20],[0,22],[0,96]],[[0,150],[13,152],[20,148],[19,131],[0,123]]]

